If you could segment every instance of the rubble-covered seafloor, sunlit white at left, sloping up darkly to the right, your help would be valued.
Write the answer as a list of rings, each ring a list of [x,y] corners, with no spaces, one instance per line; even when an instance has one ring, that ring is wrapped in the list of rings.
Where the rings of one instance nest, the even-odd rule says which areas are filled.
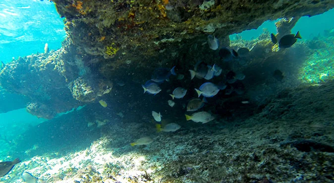
[[[332,81],[286,89],[267,101],[261,112],[243,120],[195,124],[164,116],[182,126],[174,133],[157,133],[153,123],[119,118],[86,148],[75,150],[66,142],[70,147],[64,154],[59,147],[42,148],[1,180],[22,183],[20,175],[27,171],[39,181],[53,183],[331,183],[333,87]],[[54,124],[85,112],[66,114]],[[48,128],[38,129],[41,137],[49,136]],[[87,135],[65,129],[67,134]],[[62,130],[54,130],[53,136]],[[143,136],[154,142],[130,146]]]

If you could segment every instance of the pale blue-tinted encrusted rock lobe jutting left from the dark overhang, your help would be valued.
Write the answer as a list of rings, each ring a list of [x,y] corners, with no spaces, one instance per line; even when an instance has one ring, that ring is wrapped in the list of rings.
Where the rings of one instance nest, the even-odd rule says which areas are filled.
[[[27,111],[47,119],[110,92],[110,81],[102,78],[95,80],[94,77],[82,79],[81,76],[87,76],[90,70],[71,53],[72,47],[69,47],[67,45],[49,53],[19,57],[6,64],[0,72],[1,87],[8,92],[25,95],[30,101]],[[90,95],[87,95],[87,90],[77,90],[78,87],[73,83],[78,80],[81,81],[80,89],[86,86],[90,89]]]

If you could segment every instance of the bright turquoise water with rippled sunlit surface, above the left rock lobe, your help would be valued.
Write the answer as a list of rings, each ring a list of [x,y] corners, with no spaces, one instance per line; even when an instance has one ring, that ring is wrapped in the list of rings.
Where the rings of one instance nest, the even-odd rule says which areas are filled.
[[[1,0],[0,61],[61,46],[66,33],[55,4],[48,0]]]

